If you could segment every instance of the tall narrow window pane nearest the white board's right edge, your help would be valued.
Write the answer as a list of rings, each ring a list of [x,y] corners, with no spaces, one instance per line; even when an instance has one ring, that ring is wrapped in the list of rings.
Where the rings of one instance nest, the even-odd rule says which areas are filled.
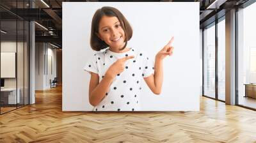
[[[204,96],[215,98],[215,24],[204,29]]]

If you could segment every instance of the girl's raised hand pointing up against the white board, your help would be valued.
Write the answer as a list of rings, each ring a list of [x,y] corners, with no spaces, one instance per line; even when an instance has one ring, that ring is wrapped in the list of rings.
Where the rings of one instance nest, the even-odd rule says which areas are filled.
[[[173,43],[174,37],[172,37],[172,39],[167,43],[167,45],[165,45],[163,47],[162,50],[160,50],[157,55],[156,55],[156,59],[164,59],[164,57],[166,56],[172,56],[173,54],[173,48],[172,47],[172,43]]]

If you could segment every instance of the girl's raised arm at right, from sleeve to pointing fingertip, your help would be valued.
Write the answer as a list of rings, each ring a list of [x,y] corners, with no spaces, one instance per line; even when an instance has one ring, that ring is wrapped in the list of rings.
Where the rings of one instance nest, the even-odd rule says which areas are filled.
[[[167,45],[164,46],[162,50],[160,50],[156,55],[155,60],[155,72],[154,75],[150,75],[149,77],[145,77],[144,80],[147,83],[148,87],[154,94],[160,94],[163,85],[163,59],[166,56],[172,56],[173,47],[172,42],[173,38],[168,42]]]

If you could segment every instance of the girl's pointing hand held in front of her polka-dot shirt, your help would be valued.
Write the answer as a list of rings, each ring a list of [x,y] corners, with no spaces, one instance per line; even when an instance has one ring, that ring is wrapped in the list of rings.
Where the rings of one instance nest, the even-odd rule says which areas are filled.
[[[116,75],[124,72],[125,61],[132,58],[134,58],[134,56],[127,56],[127,57],[123,57],[121,59],[116,60],[115,63],[109,66],[105,76],[109,76],[114,79]]]

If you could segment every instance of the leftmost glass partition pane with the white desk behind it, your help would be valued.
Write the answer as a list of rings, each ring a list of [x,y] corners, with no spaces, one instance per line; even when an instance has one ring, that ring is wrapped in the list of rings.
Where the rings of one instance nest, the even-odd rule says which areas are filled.
[[[3,32],[4,31],[4,32]],[[1,114],[17,108],[17,22],[1,21]]]

